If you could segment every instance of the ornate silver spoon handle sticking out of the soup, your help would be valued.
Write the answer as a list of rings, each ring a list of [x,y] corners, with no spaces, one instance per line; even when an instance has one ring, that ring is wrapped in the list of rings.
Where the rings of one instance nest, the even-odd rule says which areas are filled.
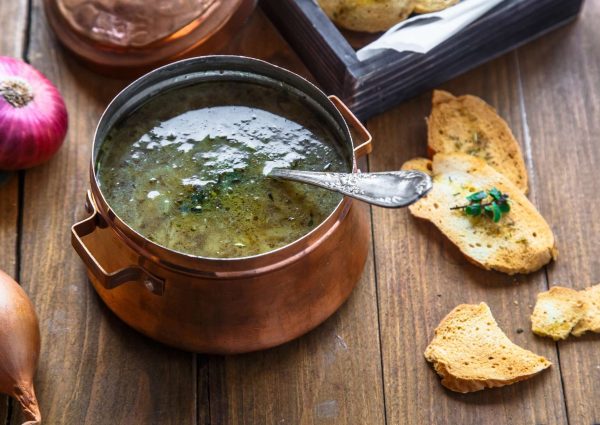
[[[432,187],[431,177],[420,171],[327,173],[273,168],[267,175],[312,184],[386,208],[411,205]]]

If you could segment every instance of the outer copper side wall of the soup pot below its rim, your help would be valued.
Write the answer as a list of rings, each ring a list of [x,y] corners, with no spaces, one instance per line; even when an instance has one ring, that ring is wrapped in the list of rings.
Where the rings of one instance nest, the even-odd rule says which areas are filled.
[[[300,250],[294,261],[278,267],[278,258],[273,258],[273,267],[262,273],[255,274],[253,260],[242,260],[247,270],[231,277],[203,277],[164,268],[137,255],[106,228],[85,238],[95,258],[107,270],[144,264],[165,281],[164,293],[153,293],[141,276],[109,289],[95,274],[88,274],[117,316],[158,341],[203,353],[270,348],[327,319],[359,280],[369,246],[368,210],[360,204],[347,207],[345,217],[308,249]]]

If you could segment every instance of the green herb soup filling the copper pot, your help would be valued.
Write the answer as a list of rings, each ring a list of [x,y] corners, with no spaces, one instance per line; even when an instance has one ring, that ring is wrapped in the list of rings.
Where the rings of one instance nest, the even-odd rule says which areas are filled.
[[[102,144],[97,176],[133,229],[176,251],[244,257],[293,242],[341,196],[278,181],[274,167],[349,171],[299,98],[249,83],[202,83],[154,97]]]

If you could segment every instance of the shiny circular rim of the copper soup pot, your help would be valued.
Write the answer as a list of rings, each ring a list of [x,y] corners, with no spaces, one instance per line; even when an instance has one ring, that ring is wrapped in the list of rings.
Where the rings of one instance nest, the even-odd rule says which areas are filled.
[[[122,220],[118,216],[118,214],[116,214],[115,211],[110,207],[108,201],[102,193],[100,184],[98,182],[96,158],[98,148],[104,140],[103,138],[99,140],[100,135],[102,134],[102,126],[105,125],[106,121],[109,118],[112,118],[112,124],[118,121],[120,117],[116,119],[114,118],[114,115],[118,112],[121,112],[121,116],[123,115],[122,110],[117,109],[115,105],[123,98],[128,98],[131,92],[135,92],[136,90],[140,89],[139,86],[142,86],[143,88],[142,83],[145,80],[151,80],[156,75],[159,75],[160,73],[164,73],[166,71],[170,71],[177,67],[185,67],[186,65],[193,66],[194,64],[205,62],[215,62],[216,65],[222,66],[224,66],[225,64],[233,64],[234,67],[241,66],[241,68],[244,68],[245,65],[248,65],[258,66],[263,70],[269,69],[275,75],[281,76],[282,82],[284,82],[285,80],[285,82],[287,82],[288,84],[290,82],[295,83],[295,85],[289,85],[294,86],[299,91],[304,92],[307,95],[308,99],[319,102],[322,106],[324,106],[323,103],[325,103],[327,105],[327,108],[323,108],[323,110],[327,110],[327,112],[330,114],[330,118],[335,120],[335,122],[339,126],[339,130],[341,130],[343,134],[344,144],[348,146],[349,151],[347,153],[349,153],[349,156],[351,158],[352,172],[358,171],[356,163],[357,155],[355,154],[352,135],[350,133],[346,120],[344,119],[340,111],[337,109],[337,107],[334,105],[334,103],[327,97],[327,95],[314,84],[312,84],[310,81],[306,80],[305,78],[301,77],[296,73],[293,73],[292,71],[255,58],[230,55],[200,56],[196,58],[184,59],[177,62],[173,62],[171,64],[159,67],[143,75],[142,77],[129,84],[123,90],[121,90],[121,92],[119,92],[106,107],[98,122],[93,138],[93,153],[90,164],[90,183],[93,202],[95,203],[95,207],[97,208],[97,211],[102,217],[103,221],[105,221],[108,224],[108,226],[110,226],[116,232],[117,237],[122,242],[127,244],[131,249],[133,249],[141,257],[141,259],[147,259],[152,263],[157,263],[163,267],[167,267],[169,269],[176,270],[180,273],[187,273],[190,275],[223,275],[230,278],[236,278],[246,277],[248,274],[258,275],[266,273],[273,269],[283,267],[286,264],[289,264],[290,262],[297,261],[298,259],[302,258],[306,253],[315,249],[316,246],[321,243],[323,238],[326,238],[332,230],[335,230],[335,228],[338,227],[337,224],[344,220],[349,208],[352,205],[353,200],[351,198],[344,197],[333,209],[333,211],[327,216],[327,218],[325,218],[321,223],[319,223],[319,225],[317,225],[314,229],[312,229],[310,232],[306,233],[302,237],[282,247],[264,253],[245,257],[205,257],[170,249],[168,247],[165,247],[154,241],[149,240],[143,234],[133,229],[126,223],[126,221]],[[263,75],[255,71],[246,72],[254,72],[256,75]],[[179,78],[185,75],[188,74],[181,73],[177,77],[171,76],[170,78]],[[193,82],[189,82],[187,84],[193,84]],[[177,85],[165,85],[164,89],[168,90],[173,87],[177,87]],[[163,90],[155,91],[153,92],[152,96],[162,92]],[[143,102],[145,101],[147,101],[147,99]],[[331,120],[329,121],[331,122]],[[108,129],[110,129],[111,127],[112,125],[108,126]],[[368,140],[368,143],[370,143],[370,138]]]

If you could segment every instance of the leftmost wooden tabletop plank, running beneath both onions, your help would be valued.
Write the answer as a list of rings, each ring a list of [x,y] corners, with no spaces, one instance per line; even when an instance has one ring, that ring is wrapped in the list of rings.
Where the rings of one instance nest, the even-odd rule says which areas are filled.
[[[22,58],[27,28],[27,0],[0,2],[0,56]],[[17,173],[0,173],[0,269],[18,277],[17,232],[19,213]],[[8,398],[0,395],[0,423],[6,423]]]

